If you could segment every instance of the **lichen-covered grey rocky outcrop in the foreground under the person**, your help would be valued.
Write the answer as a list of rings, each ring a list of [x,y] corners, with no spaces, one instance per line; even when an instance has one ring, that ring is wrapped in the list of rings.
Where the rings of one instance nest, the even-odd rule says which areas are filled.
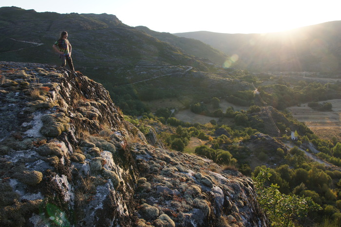
[[[81,73],[0,62],[0,109],[1,226],[268,226],[249,178],[152,146]]]

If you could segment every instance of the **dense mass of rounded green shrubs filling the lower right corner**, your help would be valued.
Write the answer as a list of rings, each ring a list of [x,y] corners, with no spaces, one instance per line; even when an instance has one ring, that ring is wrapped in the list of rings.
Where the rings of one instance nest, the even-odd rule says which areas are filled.
[[[281,193],[310,197],[322,207],[321,210],[310,212],[311,220],[322,222],[329,216],[341,224],[341,171],[327,170],[323,165],[309,163],[304,152],[297,147],[285,156],[287,164],[269,169],[269,182],[276,184]],[[253,176],[267,169],[256,167]]]

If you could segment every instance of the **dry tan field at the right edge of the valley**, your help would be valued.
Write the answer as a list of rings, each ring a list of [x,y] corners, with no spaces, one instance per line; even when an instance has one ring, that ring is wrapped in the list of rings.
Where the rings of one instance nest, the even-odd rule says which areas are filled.
[[[304,122],[318,136],[324,139],[336,137],[341,140],[341,99],[324,102],[330,102],[333,105],[332,111],[315,111],[308,107],[307,103],[287,109],[298,121]]]

